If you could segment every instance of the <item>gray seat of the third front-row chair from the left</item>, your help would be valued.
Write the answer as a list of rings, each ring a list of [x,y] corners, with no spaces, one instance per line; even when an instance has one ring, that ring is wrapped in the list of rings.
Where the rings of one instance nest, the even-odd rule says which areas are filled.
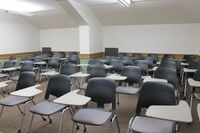
[[[78,123],[99,126],[105,124],[112,118],[112,113],[98,109],[81,109],[73,117],[73,120]]]

